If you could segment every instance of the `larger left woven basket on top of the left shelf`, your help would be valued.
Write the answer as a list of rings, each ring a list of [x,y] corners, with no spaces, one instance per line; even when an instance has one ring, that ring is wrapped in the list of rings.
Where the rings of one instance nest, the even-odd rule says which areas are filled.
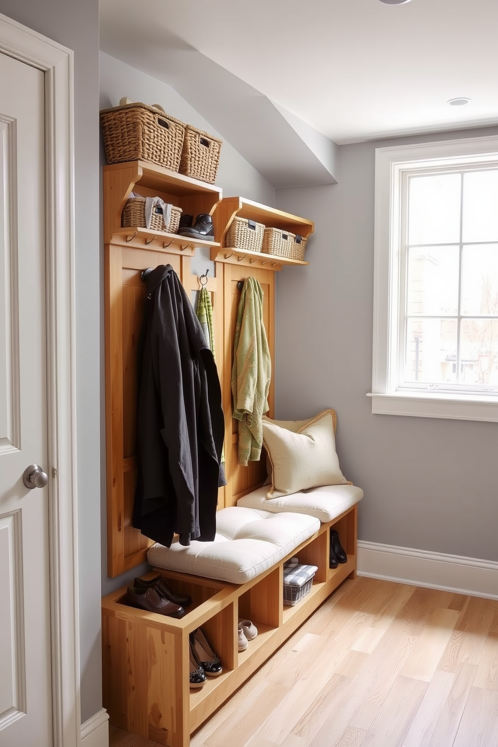
[[[103,109],[100,122],[109,164],[141,160],[178,171],[185,125],[162,108],[123,104]]]

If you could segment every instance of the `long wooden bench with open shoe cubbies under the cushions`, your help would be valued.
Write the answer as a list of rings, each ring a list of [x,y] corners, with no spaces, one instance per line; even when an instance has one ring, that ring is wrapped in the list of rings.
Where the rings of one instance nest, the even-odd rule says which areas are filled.
[[[357,501],[363,495],[358,488],[355,491],[355,502],[330,521],[318,524],[315,519],[310,524],[311,516],[306,515],[309,526],[317,527],[311,535],[299,545],[288,545],[278,562],[245,583],[229,583],[155,566],[147,578],[160,571],[172,589],[192,597],[193,603],[182,619],[125,606],[121,602],[125,587],[105,597],[102,600],[103,701],[111,723],[169,747],[187,747],[190,734],[343,580],[355,577]],[[349,495],[346,503],[352,500]],[[220,515],[223,510],[238,509],[222,509]],[[298,518],[305,521],[303,514]],[[348,556],[347,562],[338,568],[329,568],[330,527],[339,532]],[[318,570],[309,594],[295,607],[285,607],[283,566],[292,556],[299,557],[299,562],[317,565]],[[240,618],[251,619],[258,627],[258,636],[242,652],[237,646]],[[219,654],[223,672],[220,677],[209,678],[201,689],[191,691],[188,636],[197,627],[202,627]]]

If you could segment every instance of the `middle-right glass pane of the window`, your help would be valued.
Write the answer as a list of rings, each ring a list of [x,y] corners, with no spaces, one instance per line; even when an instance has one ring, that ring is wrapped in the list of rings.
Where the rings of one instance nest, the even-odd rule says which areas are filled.
[[[464,247],[462,314],[498,316],[498,244]]]

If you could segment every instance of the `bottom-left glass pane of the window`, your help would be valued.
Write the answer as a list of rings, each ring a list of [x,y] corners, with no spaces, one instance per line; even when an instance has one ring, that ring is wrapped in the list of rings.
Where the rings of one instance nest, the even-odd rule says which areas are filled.
[[[408,319],[405,382],[456,381],[456,319]]]

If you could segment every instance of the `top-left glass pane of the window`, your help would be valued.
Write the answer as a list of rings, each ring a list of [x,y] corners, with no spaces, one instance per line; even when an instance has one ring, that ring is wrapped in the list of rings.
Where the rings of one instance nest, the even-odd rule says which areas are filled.
[[[408,244],[460,241],[460,185],[460,174],[411,177]]]

